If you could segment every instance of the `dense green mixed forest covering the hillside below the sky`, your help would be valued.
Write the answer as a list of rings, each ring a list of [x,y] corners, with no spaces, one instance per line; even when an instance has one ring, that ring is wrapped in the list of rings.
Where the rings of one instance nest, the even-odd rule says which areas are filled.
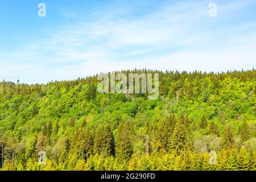
[[[97,75],[0,82],[1,170],[256,170],[254,69],[121,72],[159,73],[158,99],[100,94]]]

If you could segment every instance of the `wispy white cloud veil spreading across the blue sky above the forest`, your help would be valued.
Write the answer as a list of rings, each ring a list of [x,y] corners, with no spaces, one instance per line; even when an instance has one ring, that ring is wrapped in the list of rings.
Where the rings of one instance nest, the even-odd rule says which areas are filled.
[[[208,1],[165,4],[129,18],[125,7],[96,11],[93,20],[64,24],[15,52],[0,53],[0,78],[35,83],[134,68],[250,69],[256,22],[240,13],[252,4],[217,2],[216,18],[208,16]]]

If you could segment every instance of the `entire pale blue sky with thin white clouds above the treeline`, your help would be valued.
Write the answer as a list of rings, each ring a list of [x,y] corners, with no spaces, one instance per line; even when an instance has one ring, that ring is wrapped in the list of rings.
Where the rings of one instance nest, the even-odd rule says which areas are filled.
[[[38,16],[39,3],[46,16]],[[209,16],[210,3],[216,15]],[[256,66],[256,0],[0,0],[0,80]]]

